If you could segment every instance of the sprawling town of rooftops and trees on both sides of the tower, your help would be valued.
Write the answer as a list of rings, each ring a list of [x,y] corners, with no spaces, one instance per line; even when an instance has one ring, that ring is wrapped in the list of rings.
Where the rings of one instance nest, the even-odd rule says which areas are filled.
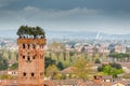
[[[87,86],[90,83],[90,86],[107,86],[106,83],[110,86],[117,83],[129,85],[129,40],[58,39],[48,42],[46,52],[46,81],[52,80],[61,85],[58,82],[64,80],[63,84],[70,86],[76,85],[72,82],[81,80],[86,81],[82,84]],[[15,39],[0,39],[0,78],[16,80],[18,58]]]

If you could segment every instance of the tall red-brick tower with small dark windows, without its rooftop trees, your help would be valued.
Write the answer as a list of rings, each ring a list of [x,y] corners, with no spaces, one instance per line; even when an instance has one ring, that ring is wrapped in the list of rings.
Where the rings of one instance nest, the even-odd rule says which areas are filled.
[[[44,38],[20,38],[18,86],[43,86]]]

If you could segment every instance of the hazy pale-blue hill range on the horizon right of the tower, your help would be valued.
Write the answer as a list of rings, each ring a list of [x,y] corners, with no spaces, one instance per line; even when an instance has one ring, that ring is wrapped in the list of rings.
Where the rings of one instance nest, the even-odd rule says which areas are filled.
[[[58,39],[89,39],[89,40],[130,40],[130,34],[108,34],[103,32],[73,32],[73,31],[61,31],[61,32],[49,32],[49,38]]]

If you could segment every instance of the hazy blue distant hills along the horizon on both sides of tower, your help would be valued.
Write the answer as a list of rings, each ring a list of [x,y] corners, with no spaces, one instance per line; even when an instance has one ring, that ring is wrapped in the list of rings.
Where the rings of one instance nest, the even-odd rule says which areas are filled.
[[[88,31],[46,31],[48,39],[130,40],[130,34],[108,34]],[[1,30],[0,38],[16,39],[16,30]]]

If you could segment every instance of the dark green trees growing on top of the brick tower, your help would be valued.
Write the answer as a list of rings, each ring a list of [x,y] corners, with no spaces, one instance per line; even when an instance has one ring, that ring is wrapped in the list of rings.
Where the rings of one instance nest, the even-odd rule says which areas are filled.
[[[44,38],[46,33],[44,33],[44,30],[39,26],[36,26],[36,27],[21,26],[16,34],[20,35],[20,38],[25,38],[25,37]]]

